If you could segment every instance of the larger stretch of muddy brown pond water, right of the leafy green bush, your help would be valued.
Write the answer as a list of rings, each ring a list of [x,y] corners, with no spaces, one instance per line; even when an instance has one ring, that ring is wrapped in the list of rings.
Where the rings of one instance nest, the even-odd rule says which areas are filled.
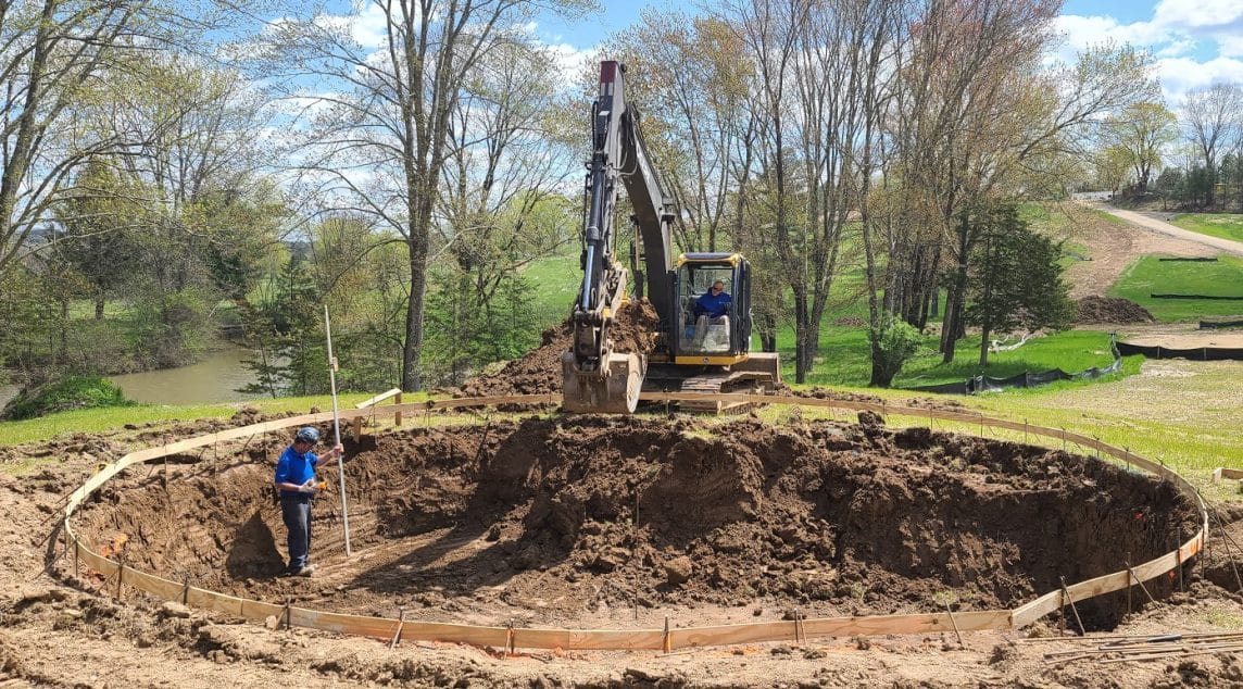
[[[191,366],[127,373],[109,379],[121,387],[126,397],[143,404],[241,402],[260,397],[237,392],[237,388],[255,381],[254,373],[242,366],[251,356],[250,349],[229,347]]]

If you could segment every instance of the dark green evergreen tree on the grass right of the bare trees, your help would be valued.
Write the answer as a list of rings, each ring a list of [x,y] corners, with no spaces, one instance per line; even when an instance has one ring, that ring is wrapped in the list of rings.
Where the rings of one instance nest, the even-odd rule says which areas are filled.
[[[1003,204],[981,214],[979,257],[967,284],[970,325],[979,326],[979,367],[988,366],[989,336],[1018,327],[1060,330],[1074,317],[1062,282],[1062,246],[1019,219],[1018,206]]]

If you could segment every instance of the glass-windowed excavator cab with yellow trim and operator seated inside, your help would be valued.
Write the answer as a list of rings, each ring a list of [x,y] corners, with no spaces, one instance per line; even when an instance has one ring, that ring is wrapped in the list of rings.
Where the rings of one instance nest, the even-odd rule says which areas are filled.
[[[674,363],[730,366],[747,358],[751,265],[746,259],[738,254],[682,254],[674,292]]]

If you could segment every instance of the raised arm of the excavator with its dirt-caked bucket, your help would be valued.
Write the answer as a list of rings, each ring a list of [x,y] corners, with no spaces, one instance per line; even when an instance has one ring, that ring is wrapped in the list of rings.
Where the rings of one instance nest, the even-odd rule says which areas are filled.
[[[634,412],[646,373],[646,357],[614,351],[610,337],[628,281],[626,270],[614,255],[619,182],[634,206],[634,221],[643,238],[648,297],[663,320],[671,312],[667,302],[672,298],[674,214],[648,158],[638,111],[625,99],[624,73],[618,62],[600,63],[600,91],[592,109],[583,282],[572,316],[573,344],[562,356],[563,405],[569,412]]]

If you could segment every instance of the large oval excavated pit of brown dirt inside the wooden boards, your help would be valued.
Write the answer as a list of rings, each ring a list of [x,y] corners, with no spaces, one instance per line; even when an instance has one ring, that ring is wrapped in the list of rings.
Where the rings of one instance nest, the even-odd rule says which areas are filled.
[[[276,435],[131,469],[80,529],[142,570],[250,598],[597,628],[670,608],[695,623],[1012,608],[1196,530],[1193,506],[1146,475],[861,420],[527,418],[364,438],[347,444],[354,555],[332,490],[314,506],[311,580],[276,576]],[[336,468],[322,475],[334,489]],[[1079,613],[1104,629],[1126,606],[1117,593]]]

